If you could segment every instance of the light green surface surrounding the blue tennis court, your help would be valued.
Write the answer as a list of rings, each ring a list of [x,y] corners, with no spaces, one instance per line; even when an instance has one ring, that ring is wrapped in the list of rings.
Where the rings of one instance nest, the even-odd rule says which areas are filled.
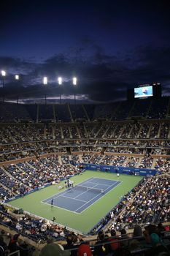
[[[55,217],[56,223],[87,234],[121,200],[123,195],[125,195],[128,191],[131,191],[131,189],[133,189],[136,186],[136,184],[138,184],[138,182],[142,179],[141,176],[127,176],[127,175],[120,175],[120,178],[118,179],[116,173],[104,173],[104,172],[100,172],[100,171],[96,172],[92,170],[86,170],[85,173],[82,173],[82,175],[74,176],[71,179],[72,181],[74,181],[74,184],[77,184],[77,185],[79,184],[84,187],[86,186],[89,187],[88,186],[89,184],[87,185],[87,181],[90,181],[92,177],[98,178],[98,182],[97,182],[98,184],[101,184],[102,182],[104,184],[107,184],[105,188],[108,190],[105,189],[104,194],[101,194],[100,196],[98,195],[99,192],[96,193],[96,196],[98,195],[98,199],[97,197],[96,197],[96,201],[95,199],[93,199],[92,200],[93,203],[89,206],[87,206],[86,204],[85,210],[82,211],[80,214],[75,212],[78,207],[74,208],[72,211],[71,203],[68,203],[69,200],[72,200],[70,198],[67,198],[68,199],[67,203],[65,203],[64,205],[64,207],[69,205],[70,207],[69,210],[66,208],[55,206],[55,205],[51,207],[49,204],[50,202],[42,203],[43,201],[50,200],[50,198],[56,197],[58,195],[62,195],[65,192],[69,192],[68,189],[66,188],[63,188],[62,191],[58,190],[58,184],[45,187],[44,189],[40,189],[34,193],[26,195],[26,197],[20,197],[16,200],[9,202],[9,205],[15,206],[17,208],[23,208],[24,211],[28,211],[31,214],[35,214],[36,216],[39,216],[45,219],[51,220],[53,219],[53,217]],[[120,181],[120,184],[116,186],[115,181]],[[114,187],[114,184],[115,184],[115,187]],[[65,186],[64,181],[61,181],[60,185],[64,187]],[[113,185],[113,186],[110,187],[110,190],[109,190],[108,187],[110,185]],[[93,186],[95,186],[95,184],[93,184]],[[103,187],[99,186],[99,188],[103,188]],[[70,193],[72,192],[75,192],[75,190],[70,189]],[[76,193],[80,194],[82,192],[85,192],[85,189],[81,189],[79,190],[79,192],[76,192]],[[74,196],[72,195],[72,198],[76,197],[76,195],[75,194]],[[86,195],[85,201],[90,201],[90,198],[95,197],[95,192],[90,193],[90,195],[87,195],[87,193],[82,195],[84,196]],[[70,194],[69,194],[69,197],[70,197]],[[80,198],[78,199],[84,200],[82,199],[82,197]],[[55,203],[55,200],[53,201]],[[83,202],[83,203],[86,203],[86,202]]]

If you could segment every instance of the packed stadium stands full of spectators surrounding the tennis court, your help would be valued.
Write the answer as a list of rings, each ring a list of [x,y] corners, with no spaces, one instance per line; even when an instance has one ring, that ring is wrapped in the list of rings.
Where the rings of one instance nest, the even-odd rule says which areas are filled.
[[[117,111],[113,111],[114,103],[84,105],[81,111],[73,105],[1,103],[0,222],[16,234],[6,244],[1,231],[0,253],[2,247],[4,255],[16,249],[20,255],[34,254],[32,247],[18,241],[20,235],[36,243],[47,242],[45,249],[62,240],[63,248],[58,249],[61,255],[79,255],[80,242],[85,243],[85,238],[56,225],[55,217],[47,221],[23,212],[18,214],[4,205],[10,198],[23,197],[47,184],[60,184],[68,176],[82,172],[70,165],[73,162],[161,171],[159,176],[143,178],[90,231],[90,235],[98,233],[98,241],[90,244],[88,252],[96,256],[131,255],[135,249],[147,248],[150,255],[168,255],[169,243],[164,243],[161,232],[169,231],[169,225],[160,223],[170,222],[169,100],[160,100],[159,107],[156,101],[148,101],[148,106],[142,102],[121,102]],[[140,236],[139,239],[128,235],[131,228],[133,236]],[[125,240],[128,238],[130,241]],[[148,252],[138,255],[147,256]]]

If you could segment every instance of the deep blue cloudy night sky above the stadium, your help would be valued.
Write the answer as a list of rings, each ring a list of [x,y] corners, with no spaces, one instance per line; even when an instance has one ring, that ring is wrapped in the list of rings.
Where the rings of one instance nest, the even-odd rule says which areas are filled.
[[[80,102],[112,102],[125,99],[128,88],[153,82],[170,95],[169,13],[169,0],[5,0],[1,97],[35,102],[46,94],[57,102],[60,94],[66,101],[76,94]]]

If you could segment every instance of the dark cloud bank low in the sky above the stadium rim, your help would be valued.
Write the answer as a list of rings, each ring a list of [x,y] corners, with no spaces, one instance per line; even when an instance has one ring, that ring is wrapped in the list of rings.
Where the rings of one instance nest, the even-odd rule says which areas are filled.
[[[85,48],[86,45],[86,48]],[[88,48],[91,48],[90,51]],[[85,53],[88,52],[88,56]],[[76,56],[77,54],[77,56]],[[76,56],[74,58],[74,56]],[[170,47],[138,47],[125,56],[108,55],[90,37],[82,40],[79,48],[72,48],[72,54],[58,54],[41,63],[1,57],[0,67],[7,68],[5,88],[1,95],[6,97],[65,97],[73,94],[88,96],[92,101],[107,102],[125,99],[127,88],[140,83],[163,83],[163,93],[169,94]],[[13,75],[21,73],[19,83]],[[22,74],[23,72],[23,74]],[[42,78],[47,75],[50,84],[42,86]],[[63,77],[63,86],[58,87],[57,78]],[[72,77],[78,79],[77,89],[72,86]]]

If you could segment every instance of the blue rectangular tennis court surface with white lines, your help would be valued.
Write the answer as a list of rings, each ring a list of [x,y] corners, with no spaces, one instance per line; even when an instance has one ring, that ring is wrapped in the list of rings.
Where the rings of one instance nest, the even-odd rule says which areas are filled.
[[[86,208],[95,203],[98,199],[117,187],[121,181],[112,181],[107,178],[89,178],[78,184],[82,187],[72,187],[42,201],[53,206],[63,208],[80,214]],[[85,189],[87,187],[87,189]]]

